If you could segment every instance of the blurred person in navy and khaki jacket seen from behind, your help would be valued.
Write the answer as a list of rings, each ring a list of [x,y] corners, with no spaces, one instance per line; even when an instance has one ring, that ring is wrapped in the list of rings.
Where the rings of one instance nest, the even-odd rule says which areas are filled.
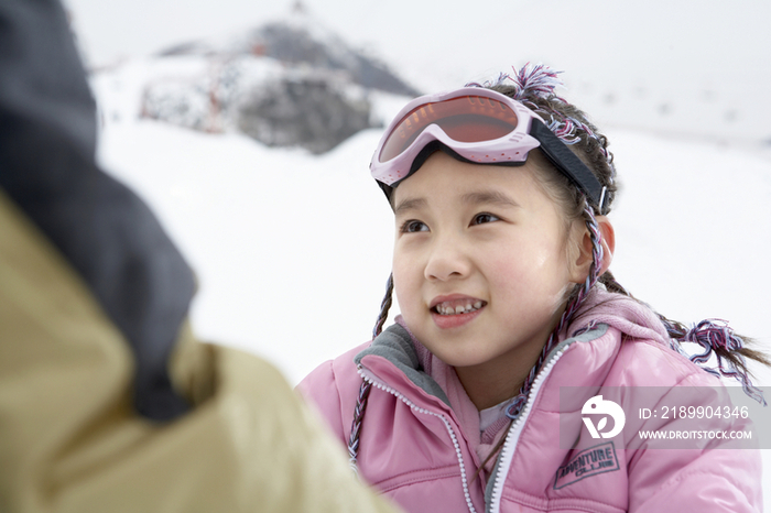
[[[195,339],[95,140],[62,6],[0,2],[0,511],[391,511],[275,369]]]

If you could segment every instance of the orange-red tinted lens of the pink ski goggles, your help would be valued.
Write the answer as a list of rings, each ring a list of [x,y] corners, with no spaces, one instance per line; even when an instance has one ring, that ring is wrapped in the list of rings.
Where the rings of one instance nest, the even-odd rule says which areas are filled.
[[[425,103],[409,112],[391,131],[380,152],[388,162],[410,148],[430,124],[457,142],[493,141],[514,131],[517,113],[509,106],[482,96],[460,96]]]

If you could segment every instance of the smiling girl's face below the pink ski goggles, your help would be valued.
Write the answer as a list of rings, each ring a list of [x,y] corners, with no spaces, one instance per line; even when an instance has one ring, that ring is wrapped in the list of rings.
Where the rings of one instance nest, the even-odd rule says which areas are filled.
[[[583,280],[569,256],[568,231],[577,231],[532,166],[468,164],[437,152],[394,192],[402,316],[458,375],[463,368],[526,373]]]

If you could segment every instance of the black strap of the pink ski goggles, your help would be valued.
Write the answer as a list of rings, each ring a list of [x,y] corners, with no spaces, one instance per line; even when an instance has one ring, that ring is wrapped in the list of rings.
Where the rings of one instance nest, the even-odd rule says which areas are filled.
[[[606,214],[602,208],[605,187],[586,164],[542,121],[533,119],[530,135],[541,143],[541,151],[546,159],[586,194],[600,214]]]

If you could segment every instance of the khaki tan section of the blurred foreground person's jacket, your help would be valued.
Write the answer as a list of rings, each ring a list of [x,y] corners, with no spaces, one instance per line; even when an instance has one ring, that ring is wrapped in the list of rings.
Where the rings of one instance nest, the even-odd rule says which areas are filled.
[[[180,327],[171,378],[191,404],[132,404],[121,332],[0,194],[0,511],[386,512],[270,364]]]

